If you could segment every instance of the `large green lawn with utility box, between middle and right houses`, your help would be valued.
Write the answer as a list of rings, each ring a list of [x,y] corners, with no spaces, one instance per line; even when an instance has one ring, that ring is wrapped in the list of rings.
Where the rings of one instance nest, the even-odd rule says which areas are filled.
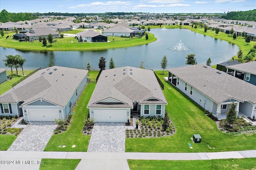
[[[166,109],[176,127],[170,137],[126,139],[126,152],[220,152],[256,149],[256,134],[229,135],[218,130],[216,123],[204,115],[204,111],[186,95],[164,81],[162,71],[156,74],[164,83]],[[202,143],[194,144],[190,139],[200,134]],[[188,143],[192,143],[190,149]],[[216,149],[209,149],[207,143]]]

